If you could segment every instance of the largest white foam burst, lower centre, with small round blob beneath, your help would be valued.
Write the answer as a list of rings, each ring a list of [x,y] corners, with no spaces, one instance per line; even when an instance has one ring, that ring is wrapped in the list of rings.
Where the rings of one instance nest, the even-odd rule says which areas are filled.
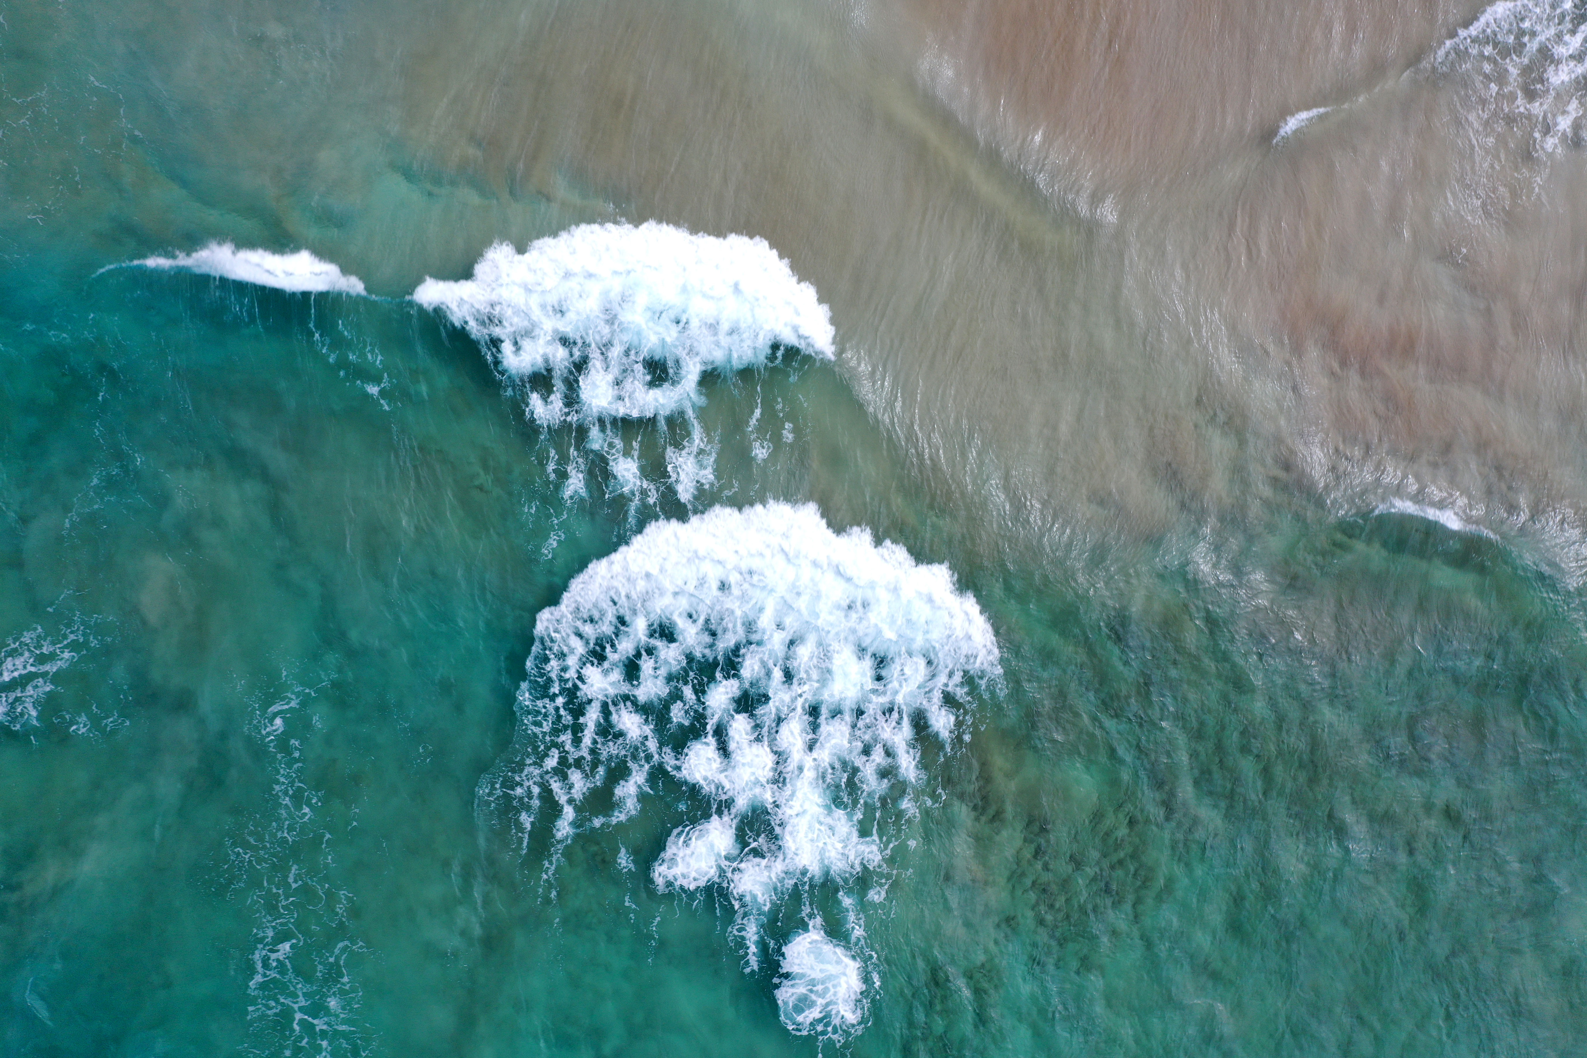
[[[833,533],[809,504],[716,508],[649,525],[541,611],[517,741],[481,801],[525,839],[549,820],[549,872],[663,776],[682,785],[694,815],[651,879],[717,887],[754,968],[784,899],[882,866],[924,780],[917,738],[952,747],[957,703],[998,679],[992,628],[946,566],[863,528]],[[852,953],[822,934],[782,963],[790,1029],[859,1025]]]

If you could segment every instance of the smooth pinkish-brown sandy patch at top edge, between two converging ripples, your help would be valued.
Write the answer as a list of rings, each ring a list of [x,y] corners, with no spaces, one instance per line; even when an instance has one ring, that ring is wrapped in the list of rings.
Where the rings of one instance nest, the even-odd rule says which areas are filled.
[[[1481,0],[898,0],[927,82],[1055,184],[1149,194],[1395,78]],[[1041,136],[1039,143],[1033,140]]]

